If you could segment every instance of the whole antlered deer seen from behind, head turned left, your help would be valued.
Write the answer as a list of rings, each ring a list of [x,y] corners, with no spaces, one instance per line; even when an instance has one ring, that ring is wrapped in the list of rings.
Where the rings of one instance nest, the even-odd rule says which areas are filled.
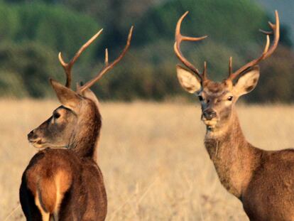
[[[67,81],[65,86],[50,82],[62,105],[28,134],[28,141],[40,151],[31,159],[21,182],[20,200],[27,220],[105,220],[107,195],[96,163],[102,118],[98,99],[89,87],[124,57],[132,32],[133,27],[121,55],[109,63],[106,50],[104,68],[77,87],[77,92],[70,89],[72,65],[102,30],[80,48],[70,63],[59,54]]]

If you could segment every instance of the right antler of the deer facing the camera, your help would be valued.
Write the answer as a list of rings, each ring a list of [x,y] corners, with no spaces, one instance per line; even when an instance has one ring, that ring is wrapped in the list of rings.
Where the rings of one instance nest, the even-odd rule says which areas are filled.
[[[277,10],[275,11],[275,15],[276,15],[276,24],[268,22],[269,26],[271,27],[271,29],[273,29],[273,31],[260,30],[262,33],[266,34],[266,46],[265,46],[261,56],[259,58],[254,59],[254,60],[251,60],[251,62],[249,62],[246,65],[244,65],[243,67],[239,68],[239,70],[236,70],[236,72],[234,72],[234,73],[232,72],[232,59],[230,58],[230,62],[229,62],[230,68],[229,68],[229,77],[228,77],[229,80],[234,80],[238,75],[240,75],[242,72],[244,72],[248,68],[251,68],[254,65],[257,65],[259,62],[261,62],[261,60],[265,60],[266,58],[271,56],[273,54],[273,52],[276,50],[276,48],[278,47],[278,41],[280,38],[280,20],[278,18],[278,11]],[[273,45],[271,45],[271,47],[270,47],[270,38],[269,38],[270,34],[274,35]]]

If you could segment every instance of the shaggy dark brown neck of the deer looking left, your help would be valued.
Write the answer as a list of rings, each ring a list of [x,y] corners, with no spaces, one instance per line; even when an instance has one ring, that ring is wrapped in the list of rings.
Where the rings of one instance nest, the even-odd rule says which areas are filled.
[[[99,141],[102,119],[98,108],[93,102],[82,107],[70,141],[70,149],[80,157],[97,159],[97,146]]]

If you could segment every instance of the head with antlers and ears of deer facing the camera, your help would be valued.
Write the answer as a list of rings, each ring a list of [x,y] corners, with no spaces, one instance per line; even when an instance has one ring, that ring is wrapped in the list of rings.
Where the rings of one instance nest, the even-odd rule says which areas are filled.
[[[182,36],[180,26],[187,16],[188,11],[179,19],[175,30],[174,50],[177,57],[185,65],[183,68],[177,65],[177,74],[180,85],[191,94],[197,95],[202,107],[202,121],[207,125],[209,131],[222,130],[229,120],[232,119],[232,110],[234,104],[241,95],[245,95],[256,87],[259,77],[258,63],[268,58],[278,46],[279,40],[279,18],[276,11],[276,24],[270,23],[272,32],[261,31],[266,34],[266,46],[259,58],[252,60],[243,67],[233,72],[232,57],[229,59],[229,76],[222,82],[214,82],[207,78],[207,64],[205,62],[204,70],[200,73],[180,51],[182,41],[201,41],[207,36],[200,38],[191,38]],[[270,47],[269,35],[274,35],[273,45]],[[239,77],[239,79],[237,79]],[[236,80],[237,79],[237,80]],[[236,80],[236,82],[234,82]]]

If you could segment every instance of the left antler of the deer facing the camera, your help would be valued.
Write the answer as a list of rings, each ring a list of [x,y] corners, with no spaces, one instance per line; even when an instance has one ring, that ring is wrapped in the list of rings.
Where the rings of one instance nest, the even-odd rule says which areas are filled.
[[[175,28],[175,45],[174,45],[174,50],[175,50],[175,55],[177,55],[177,57],[179,58],[179,60],[190,70],[192,70],[192,72],[194,72],[198,77],[200,77],[200,80],[204,80],[203,79],[203,75],[200,74],[199,70],[197,70],[197,68],[195,68],[194,65],[192,65],[183,55],[183,53],[180,51],[180,43],[182,43],[182,41],[201,41],[205,38],[207,38],[207,36],[202,36],[199,38],[193,38],[193,37],[187,37],[187,36],[182,36],[182,34],[180,33],[180,26],[185,18],[185,16],[187,16],[187,14],[189,13],[189,11],[186,11],[185,14],[183,14],[183,16],[180,17],[180,19],[178,20],[177,26]],[[206,72],[206,70],[205,70]]]

